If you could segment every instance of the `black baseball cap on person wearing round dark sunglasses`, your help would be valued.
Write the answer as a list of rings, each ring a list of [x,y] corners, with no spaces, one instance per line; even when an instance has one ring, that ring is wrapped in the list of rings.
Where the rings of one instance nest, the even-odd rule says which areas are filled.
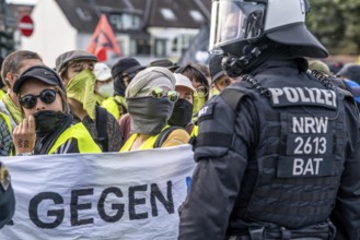
[[[21,86],[26,80],[36,79],[53,86],[59,86],[65,92],[65,86],[60,76],[46,65],[34,65],[25,70],[15,81],[13,92],[19,94]]]

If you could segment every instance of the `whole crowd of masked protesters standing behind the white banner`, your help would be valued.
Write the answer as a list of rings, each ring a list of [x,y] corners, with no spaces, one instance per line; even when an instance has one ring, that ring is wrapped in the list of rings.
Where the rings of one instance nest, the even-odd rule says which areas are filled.
[[[114,65],[82,50],[61,53],[55,69],[37,52],[18,50],[1,64],[1,156],[149,149],[189,143],[211,97],[241,81],[221,56],[178,65],[132,57]],[[309,61],[309,71],[344,79],[360,101],[360,65]]]

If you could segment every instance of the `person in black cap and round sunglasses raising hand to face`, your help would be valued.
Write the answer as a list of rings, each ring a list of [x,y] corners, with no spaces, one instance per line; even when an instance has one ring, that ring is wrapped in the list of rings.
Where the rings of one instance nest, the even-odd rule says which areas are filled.
[[[13,92],[24,117],[13,131],[18,156],[101,153],[86,128],[69,113],[65,86],[54,70],[45,65],[27,69]]]

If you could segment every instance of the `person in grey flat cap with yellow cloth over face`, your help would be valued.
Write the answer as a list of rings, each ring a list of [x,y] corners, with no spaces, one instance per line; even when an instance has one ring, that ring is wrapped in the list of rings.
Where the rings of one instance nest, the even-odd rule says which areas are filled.
[[[112,113],[96,105],[94,65],[97,57],[83,50],[70,50],[56,58],[71,113],[89,130],[103,152],[118,152],[123,146],[121,130]]]

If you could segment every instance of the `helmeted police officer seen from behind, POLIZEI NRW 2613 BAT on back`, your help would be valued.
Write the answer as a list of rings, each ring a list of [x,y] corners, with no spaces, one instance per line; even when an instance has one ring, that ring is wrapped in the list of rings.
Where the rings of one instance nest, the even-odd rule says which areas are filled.
[[[359,112],[310,74],[305,0],[213,0],[210,44],[240,83],[200,110],[179,239],[360,239]]]

